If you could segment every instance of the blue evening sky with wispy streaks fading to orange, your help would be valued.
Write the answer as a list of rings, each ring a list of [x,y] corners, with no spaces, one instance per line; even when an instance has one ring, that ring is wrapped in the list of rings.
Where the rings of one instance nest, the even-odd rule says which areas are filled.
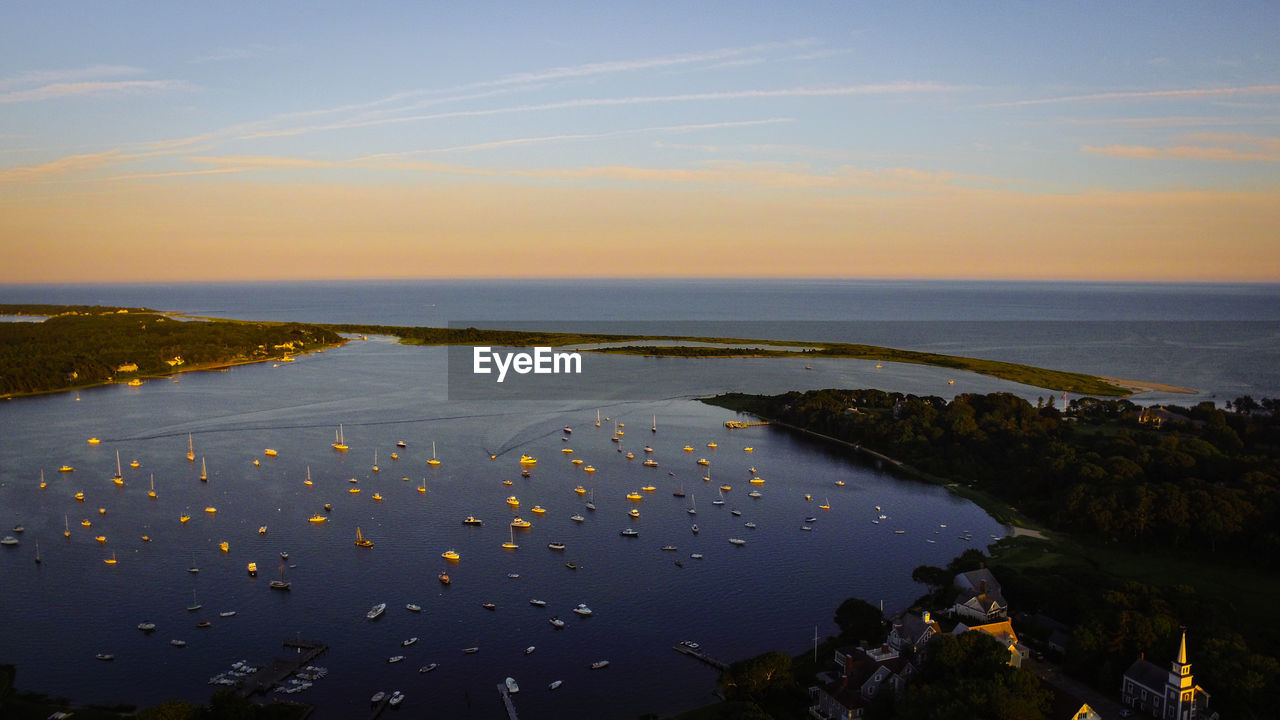
[[[1280,282],[1280,3],[5,3],[0,283]]]

